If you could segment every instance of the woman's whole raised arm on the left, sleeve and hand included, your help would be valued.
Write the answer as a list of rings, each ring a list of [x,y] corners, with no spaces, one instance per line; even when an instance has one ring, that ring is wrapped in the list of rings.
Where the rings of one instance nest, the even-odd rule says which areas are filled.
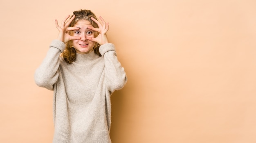
[[[80,39],[81,37],[75,37],[69,35],[69,31],[77,30],[77,27],[68,27],[74,20],[75,15],[68,19],[70,15],[67,15],[58,25],[58,21],[55,20],[55,26],[58,29],[58,37],[52,41],[50,48],[47,52],[43,63],[36,69],[34,78],[36,85],[39,87],[45,87],[49,90],[53,90],[53,85],[58,79],[58,67],[60,65],[59,56],[65,50],[65,43],[70,40]]]

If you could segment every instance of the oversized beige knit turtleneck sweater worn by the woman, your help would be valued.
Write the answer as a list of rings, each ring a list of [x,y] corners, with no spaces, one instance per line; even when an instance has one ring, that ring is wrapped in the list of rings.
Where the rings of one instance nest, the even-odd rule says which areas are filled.
[[[112,43],[94,52],[77,54],[67,64],[62,41],[52,41],[34,78],[39,87],[54,91],[53,143],[111,143],[110,95],[127,82]]]

